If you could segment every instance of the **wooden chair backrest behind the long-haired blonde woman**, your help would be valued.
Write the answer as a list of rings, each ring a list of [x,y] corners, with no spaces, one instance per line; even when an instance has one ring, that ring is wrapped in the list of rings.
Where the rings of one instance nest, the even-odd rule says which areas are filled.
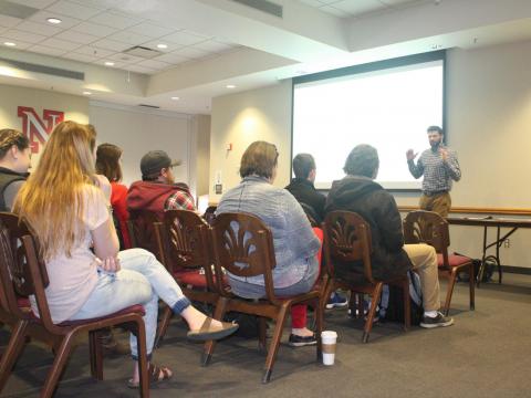
[[[31,315],[21,311],[18,298],[34,295],[44,327],[58,329],[44,293],[49,279],[39,255],[38,239],[27,222],[8,212],[0,212],[0,279],[3,311],[14,318],[28,320]]]

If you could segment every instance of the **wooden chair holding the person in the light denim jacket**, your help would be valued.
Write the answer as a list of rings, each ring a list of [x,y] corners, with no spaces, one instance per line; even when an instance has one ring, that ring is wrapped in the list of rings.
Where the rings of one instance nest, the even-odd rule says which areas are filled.
[[[278,297],[273,290],[272,271],[275,266],[273,239],[269,228],[257,217],[246,213],[222,213],[216,217],[212,229],[216,282],[220,298],[216,305],[215,318],[221,320],[228,311],[257,315],[260,320],[260,346],[266,346],[266,318],[275,321],[272,341],[266,359],[262,383],[269,383],[279,349],[285,317],[293,304],[313,303],[315,307],[317,359],[321,358],[321,331],[323,314],[322,291],[311,290],[292,297]],[[235,296],[222,283],[222,268],[237,276],[263,275],[266,297],[247,301]],[[208,365],[215,343],[205,345],[204,364]]]

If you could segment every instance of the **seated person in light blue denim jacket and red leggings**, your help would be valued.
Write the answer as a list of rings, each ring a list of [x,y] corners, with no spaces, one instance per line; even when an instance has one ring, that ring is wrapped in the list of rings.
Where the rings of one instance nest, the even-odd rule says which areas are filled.
[[[293,296],[309,292],[319,276],[316,254],[321,241],[315,235],[304,211],[285,189],[272,186],[277,177],[279,153],[266,142],[252,143],[240,164],[241,182],[227,191],[216,214],[247,212],[259,217],[273,237],[277,266],[273,269],[274,293]],[[238,277],[228,274],[232,292],[246,298],[264,297],[261,276]],[[290,345],[316,344],[315,335],[306,328],[306,306],[292,307]]]

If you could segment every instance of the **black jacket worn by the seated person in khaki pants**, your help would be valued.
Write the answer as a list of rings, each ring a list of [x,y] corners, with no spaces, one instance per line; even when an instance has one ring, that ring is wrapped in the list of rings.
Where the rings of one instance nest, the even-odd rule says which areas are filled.
[[[373,276],[378,280],[404,274],[412,262],[404,251],[402,219],[395,198],[381,185],[366,177],[346,176],[334,181],[326,199],[326,212],[347,210],[358,213],[371,227]],[[340,275],[363,273],[362,264],[351,264],[350,270],[335,266]]]

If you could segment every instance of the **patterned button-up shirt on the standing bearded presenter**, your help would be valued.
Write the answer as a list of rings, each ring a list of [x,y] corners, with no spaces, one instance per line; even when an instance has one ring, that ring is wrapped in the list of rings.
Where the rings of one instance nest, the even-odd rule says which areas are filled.
[[[407,161],[413,177],[419,178],[424,175],[423,192],[428,195],[449,191],[451,189],[451,180],[459,181],[461,178],[461,169],[457,161],[456,151],[445,146],[441,148],[448,150],[446,161],[442,160],[439,150],[433,151],[431,149],[423,151],[416,165],[414,160]]]

